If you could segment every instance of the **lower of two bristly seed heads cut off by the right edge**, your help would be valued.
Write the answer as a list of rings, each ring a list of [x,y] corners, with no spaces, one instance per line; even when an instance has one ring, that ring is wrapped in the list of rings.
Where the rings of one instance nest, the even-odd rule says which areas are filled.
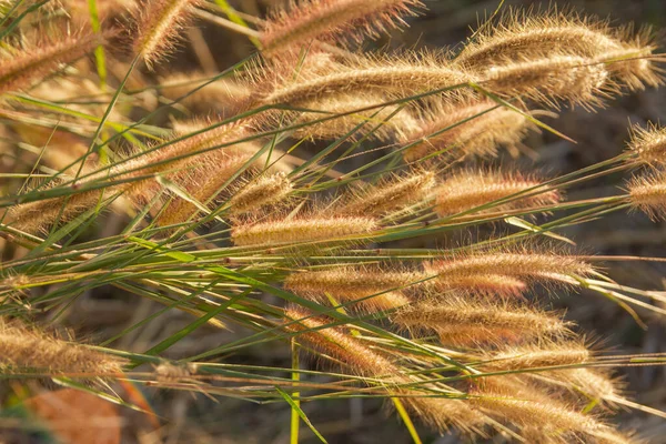
[[[652,220],[666,218],[666,173],[653,171],[633,176],[627,183],[629,202]]]

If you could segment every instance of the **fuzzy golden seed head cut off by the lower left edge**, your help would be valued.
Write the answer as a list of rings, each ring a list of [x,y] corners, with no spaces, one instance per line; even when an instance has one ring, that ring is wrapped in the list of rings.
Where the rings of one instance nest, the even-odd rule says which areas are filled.
[[[118,375],[124,361],[83,345],[0,320],[0,365],[4,374],[26,370]]]

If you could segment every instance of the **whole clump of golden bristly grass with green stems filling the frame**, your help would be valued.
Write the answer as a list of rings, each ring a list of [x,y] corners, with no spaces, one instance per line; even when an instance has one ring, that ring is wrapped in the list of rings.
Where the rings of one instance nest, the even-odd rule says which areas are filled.
[[[602,261],[654,258],[595,258],[565,231],[664,218],[664,129],[561,175],[516,160],[532,133],[567,139],[542,118],[659,87],[652,31],[511,10],[457,50],[374,51],[366,38],[424,6],[299,0],[261,19],[212,0],[22,3],[0,3],[14,397],[51,381],[148,413],[155,434],[147,387],[281,403],[292,443],[302,425],[326,442],[310,406],[349,398],[384,400],[414,442],[629,443],[640,431],[614,412],[663,415],[616,376],[663,356],[604,351],[548,295],[605,296],[638,325],[666,314],[663,292]],[[203,20],[251,56],[221,71]],[[201,67],[182,69],[178,42]],[[613,195],[566,200],[618,172]],[[131,309],[84,316],[84,301]]]

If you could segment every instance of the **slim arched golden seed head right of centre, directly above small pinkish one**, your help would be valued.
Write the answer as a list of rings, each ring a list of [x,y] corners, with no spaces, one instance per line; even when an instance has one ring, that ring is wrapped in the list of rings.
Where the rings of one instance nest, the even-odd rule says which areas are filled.
[[[437,285],[446,289],[462,276],[501,274],[531,282],[567,282],[572,275],[589,275],[594,269],[576,256],[538,253],[525,249],[511,252],[475,252],[424,264]]]

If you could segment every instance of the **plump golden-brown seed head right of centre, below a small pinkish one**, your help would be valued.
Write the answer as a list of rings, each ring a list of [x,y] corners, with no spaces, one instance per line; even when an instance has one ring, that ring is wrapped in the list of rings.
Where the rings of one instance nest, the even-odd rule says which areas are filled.
[[[442,344],[470,345],[500,341],[525,342],[568,334],[567,324],[552,313],[527,306],[448,296],[423,301],[397,312],[393,322],[412,332],[435,331]]]

